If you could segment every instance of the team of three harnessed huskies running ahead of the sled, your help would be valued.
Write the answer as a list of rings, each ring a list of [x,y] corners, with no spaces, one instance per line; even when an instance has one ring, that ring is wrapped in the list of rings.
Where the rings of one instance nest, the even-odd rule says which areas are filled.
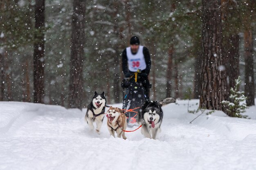
[[[163,110],[162,105],[175,102],[175,99],[167,98],[166,101],[155,102],[146,101],[138,113],[138,123],[141,126],[141,133],[147,138],[156,139],[157,133],[161,131],[160,127],[163,120]],[[94,129],[93,123],[96,123],[96,131],[99,133],[103,123],[106,107],[106,98],[104,92],[98,94],[94,92],[91,103],[87,106],[87,111],[85,114],[85,120],[91,130]],[[126,139],[125,132],[127,127],[127,118],[124,111],[120,108],[115,108],[110,106],[106,113],[107,126],[110,135],[115,137],[115,132],[117,137]]]

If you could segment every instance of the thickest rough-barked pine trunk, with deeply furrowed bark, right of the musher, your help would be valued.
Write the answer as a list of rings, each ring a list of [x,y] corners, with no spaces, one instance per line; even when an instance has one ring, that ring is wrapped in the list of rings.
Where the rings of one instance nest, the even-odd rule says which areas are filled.
[[[202,21],[200,108],[222,110],[225,78],[222,73],[220,0],[202,0]]]

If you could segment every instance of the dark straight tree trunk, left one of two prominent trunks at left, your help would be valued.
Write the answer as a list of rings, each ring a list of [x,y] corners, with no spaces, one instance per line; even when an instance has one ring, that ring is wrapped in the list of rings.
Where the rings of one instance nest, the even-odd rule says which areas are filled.
[[[35,28],[37,31],[34,43],[34,102],[43,103],[45,60],[45,0],[36,0]]]

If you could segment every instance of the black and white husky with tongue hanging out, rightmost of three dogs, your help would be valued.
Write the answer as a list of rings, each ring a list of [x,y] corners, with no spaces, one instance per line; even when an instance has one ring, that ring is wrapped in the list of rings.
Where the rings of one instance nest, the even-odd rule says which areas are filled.
[[[145,137],[156,139],[157,132],[161,132],[164,113],[162,106],[174,103],[175,99],[166,98],[161,102],[146,101],[139,110],[138,121],[142,125],[141,133]]]

